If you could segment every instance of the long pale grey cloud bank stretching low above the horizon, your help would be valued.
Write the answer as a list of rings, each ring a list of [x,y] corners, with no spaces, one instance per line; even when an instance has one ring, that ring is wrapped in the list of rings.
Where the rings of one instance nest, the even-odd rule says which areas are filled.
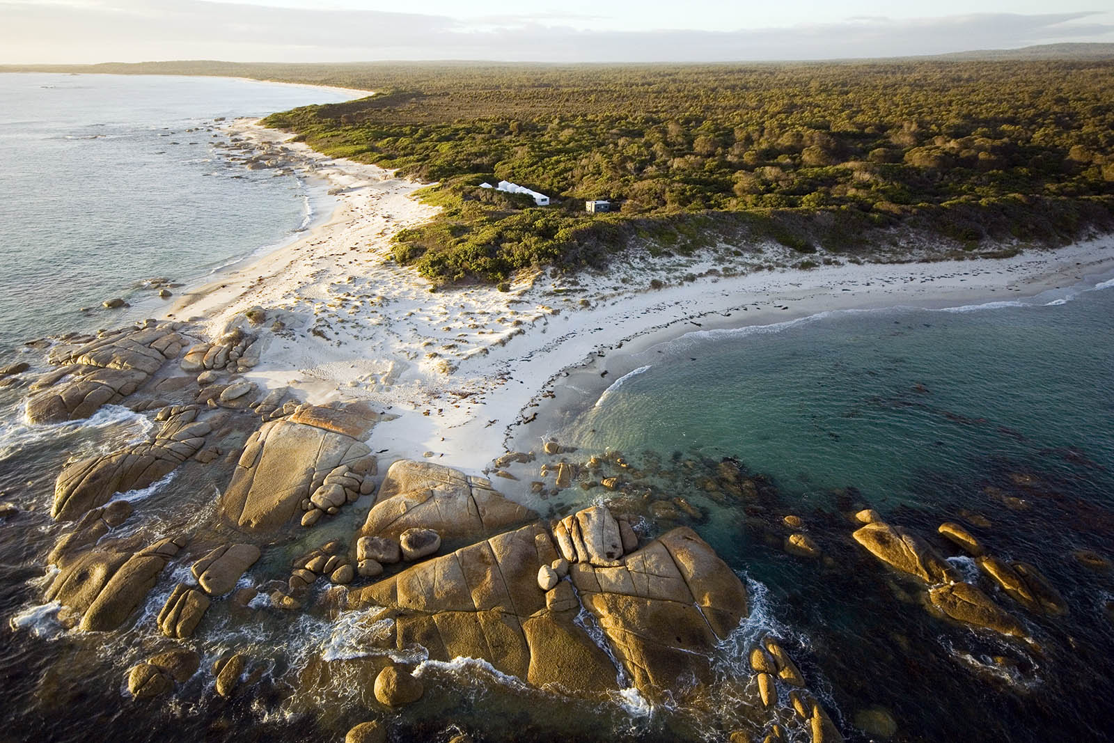
[[[930,55],[1112,40],[1102,13],[983,13],[734,31],[614,31],[529,16],[472,19],[208,0],[0,0],[8,62],[225,59],[732,61]]]

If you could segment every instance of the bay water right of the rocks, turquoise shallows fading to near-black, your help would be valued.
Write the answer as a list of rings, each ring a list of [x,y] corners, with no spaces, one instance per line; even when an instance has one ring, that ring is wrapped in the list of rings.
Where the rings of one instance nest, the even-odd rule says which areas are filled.
[[[682,521],[762,586],[760,622],[792,636],[852,735],[854,714],[882,705],[899,740],[1108,740],[1114,583],[1073,551],[1114,545],[1112,317],[1114,282],[1098,277],[1017,303],[698,331],[631,359],[593,407],[550,411],[551,432],[577,461],[622,453],[636,497],[701,511]],[[724,461],[759,476],[745,506],[707,485]],[[958,550],[937,526],[965,524],[1037,566],[1068,616],[1028,614],[983,579],[1038,649],[930,617],[920,588],[851,540],[864,507],[945,554]],[[784,551],[785,515],[823,560]]]

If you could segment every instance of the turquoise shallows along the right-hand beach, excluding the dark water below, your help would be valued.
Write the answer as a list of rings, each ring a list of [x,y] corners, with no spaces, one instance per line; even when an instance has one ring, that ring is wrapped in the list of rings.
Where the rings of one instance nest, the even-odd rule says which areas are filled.
[[[1062,470],[1049,460],[1073,449],[1114,465],[1114,291],[1055,301],[692,333],[559,436],[761,462],[805,498],[854,485],[880,510],[919,502],[926,471]]]

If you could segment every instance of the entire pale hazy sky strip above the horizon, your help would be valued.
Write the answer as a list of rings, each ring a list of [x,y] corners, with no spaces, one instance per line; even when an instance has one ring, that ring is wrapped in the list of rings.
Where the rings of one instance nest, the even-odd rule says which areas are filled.
[[[734,61],[1114,42],[1114,0],[1081,2],[0,0],[0,63]]]

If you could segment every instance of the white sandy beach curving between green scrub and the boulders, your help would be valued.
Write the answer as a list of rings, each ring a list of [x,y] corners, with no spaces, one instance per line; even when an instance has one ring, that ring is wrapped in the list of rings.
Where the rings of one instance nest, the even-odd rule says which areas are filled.
[[[183,295],[170,316],[194,319],[215,336],[262,307],[266,319],[253,332],[265,348],[248,379],[290,385],[311,402],[369,400],[398,416],[375,428],[374,450],[389,458],[427,454],[470,472],[521,438],[522,420],[532,419],[569,368],[596,362],[592,373],[607,371],[614,381],[629,371],[629,353],[697,329],[833,310],[1008,301],[1114,270],[1107,236],[1012,258],[742,273],[791,257],[764,245],[743,246],[745,255],[734,260],[730,251],[665,261],[636,252],[605,275],[536,274],[509,292],[433,292],[390,257],[399,229],[436,213],[413,197],[422,184],[285,143],[284,133],[251,121],[231,130],[282,153],[302,175],[328,180],[338,203],[301,239]],[[716,275],[724,268],[740,274]],[[678,281],[686,274],[698,277]],[[666,286],[648,289],[655,277]]]

